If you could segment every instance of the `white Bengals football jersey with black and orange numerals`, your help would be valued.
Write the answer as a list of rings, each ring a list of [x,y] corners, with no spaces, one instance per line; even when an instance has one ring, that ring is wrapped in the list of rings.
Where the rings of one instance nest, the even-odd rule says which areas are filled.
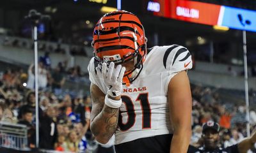
[[[179,45],[148,49],[140,75],[129,87],[123,85],[115,144],[138,138],[173,133],[168,108],[168,84],[173,76],[192,68],[191,54]],[[96,74],[92,58],[88,66],[90,80],[102,92],[108,88]]]

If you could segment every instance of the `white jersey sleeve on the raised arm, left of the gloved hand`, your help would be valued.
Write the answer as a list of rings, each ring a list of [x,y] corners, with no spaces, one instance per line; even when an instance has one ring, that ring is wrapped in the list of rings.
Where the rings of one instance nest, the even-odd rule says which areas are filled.
[[[99,87],[99,89],[104,92],[104,94],[107,93],[108,89],[104,85],[104,82],[102,81],[102,78],[97,75],[97,68],[98,64],[94,61],[94,58],[92,58],[88,65],[88,72],[89,72],[89,79],[92,82],[92,84],[95,84]]]

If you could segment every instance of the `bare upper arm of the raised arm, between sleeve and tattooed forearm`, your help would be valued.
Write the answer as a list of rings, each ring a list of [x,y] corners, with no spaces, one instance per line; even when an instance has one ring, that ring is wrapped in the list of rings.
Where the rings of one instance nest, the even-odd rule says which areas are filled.
[[[104,107],[105,94],[102,91],[100,91],[99,87],[95,84],[91,84],[90,94],[92,98],[92,112],[91,112],[91,122],[92,122],[92,120],[102,111]]]

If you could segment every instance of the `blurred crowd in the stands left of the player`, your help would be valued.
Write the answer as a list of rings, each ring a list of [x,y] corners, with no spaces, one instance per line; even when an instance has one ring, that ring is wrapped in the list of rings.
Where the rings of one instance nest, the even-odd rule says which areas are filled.
[[[65,69],[58,64],[47,68],[45,58],[38,63],[40,142],[42,149],[84,152],[95,149],[90,134],[90,96],[61,93],[65,78],[82,77],[79,68]],[[48,60],[49,61],[49,60]],[[35,144],[35,70],[34,64],[23,69],[6,69],[0,78],[0,120],[28,127],[28,147]],[[87,139],[86,136],[87,135]],[[92,140],[91,140],[92,139]],[[88,143],[89,140],[89,143]],[[91,140],[91,141],[90,141]]]

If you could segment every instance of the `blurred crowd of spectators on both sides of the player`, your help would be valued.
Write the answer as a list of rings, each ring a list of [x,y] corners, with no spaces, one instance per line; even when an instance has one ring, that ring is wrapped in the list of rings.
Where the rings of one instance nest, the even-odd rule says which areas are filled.
[[[45,62],[48,61],[48,62]],[[0,120],[28,127],[28,146],[35,148],[35,71],[33,64],[28,72],[23,69],[6,69],[0,78]],[[60,96],[65,80],[83,77],[79,67],[67,69],[60,63],[51,69],[51,59],[40,57],[38,64],[40,148],[88,152],[106,147],[99,145],[90,133],[90,95],[65,93]],[[27,82],[27,85],[24,85]],[[30,83],[29,83],[30,82]],[[214,120],[221,126],[221,144],[228,147],[246,137],[245,106],[228,103],[218,89],[191,85],[193,95],[193,136],[191,144],[202,145],[202,124]],[[250,101],[256,102],[255,91]],[[250,124],[256,125],[256,113],[250,110]],[[107,147],[111,147],[113,142]]]

